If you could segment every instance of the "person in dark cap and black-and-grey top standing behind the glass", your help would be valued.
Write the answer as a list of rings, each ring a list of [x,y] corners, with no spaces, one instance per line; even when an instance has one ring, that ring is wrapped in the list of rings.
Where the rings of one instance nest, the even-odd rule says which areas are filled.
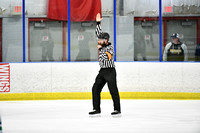
[[[163,61],[187,61],[187,46],[180,41],[178,33],[171,36],[172,41],[165,46]]]

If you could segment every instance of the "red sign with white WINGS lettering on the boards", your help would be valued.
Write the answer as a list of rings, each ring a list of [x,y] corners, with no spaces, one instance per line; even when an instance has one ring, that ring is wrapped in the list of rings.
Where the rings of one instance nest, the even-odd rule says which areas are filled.
[[[10,64],[0,64],[0,92],[10,92]]]

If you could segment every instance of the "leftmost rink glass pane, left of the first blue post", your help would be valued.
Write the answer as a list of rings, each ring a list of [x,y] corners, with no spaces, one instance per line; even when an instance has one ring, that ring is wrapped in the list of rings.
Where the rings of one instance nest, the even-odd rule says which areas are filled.
[[[0,61],[23,61],[22,0],[0,0]]]

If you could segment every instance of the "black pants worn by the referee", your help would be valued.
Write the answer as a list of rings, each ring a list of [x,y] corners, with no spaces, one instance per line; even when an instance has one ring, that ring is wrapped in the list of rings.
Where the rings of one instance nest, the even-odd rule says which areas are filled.
[[[105,84],[108,84],[110,94],[114,103],[114,110],[121,111],[120,98],[116,83],[115,68],[101,68],[92,87],[93,109],[101,111],[100,100],[101,90]]]

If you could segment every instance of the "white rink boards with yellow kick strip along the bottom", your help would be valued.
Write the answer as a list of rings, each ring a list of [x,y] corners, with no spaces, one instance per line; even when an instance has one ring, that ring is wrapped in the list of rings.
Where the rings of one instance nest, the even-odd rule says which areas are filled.
[[[91,99],[98,62],[10,63],[0,100]],[[198,63],[116,62],[122,99],[200,99]],[[109,99],[107,85],[102,93]]]

